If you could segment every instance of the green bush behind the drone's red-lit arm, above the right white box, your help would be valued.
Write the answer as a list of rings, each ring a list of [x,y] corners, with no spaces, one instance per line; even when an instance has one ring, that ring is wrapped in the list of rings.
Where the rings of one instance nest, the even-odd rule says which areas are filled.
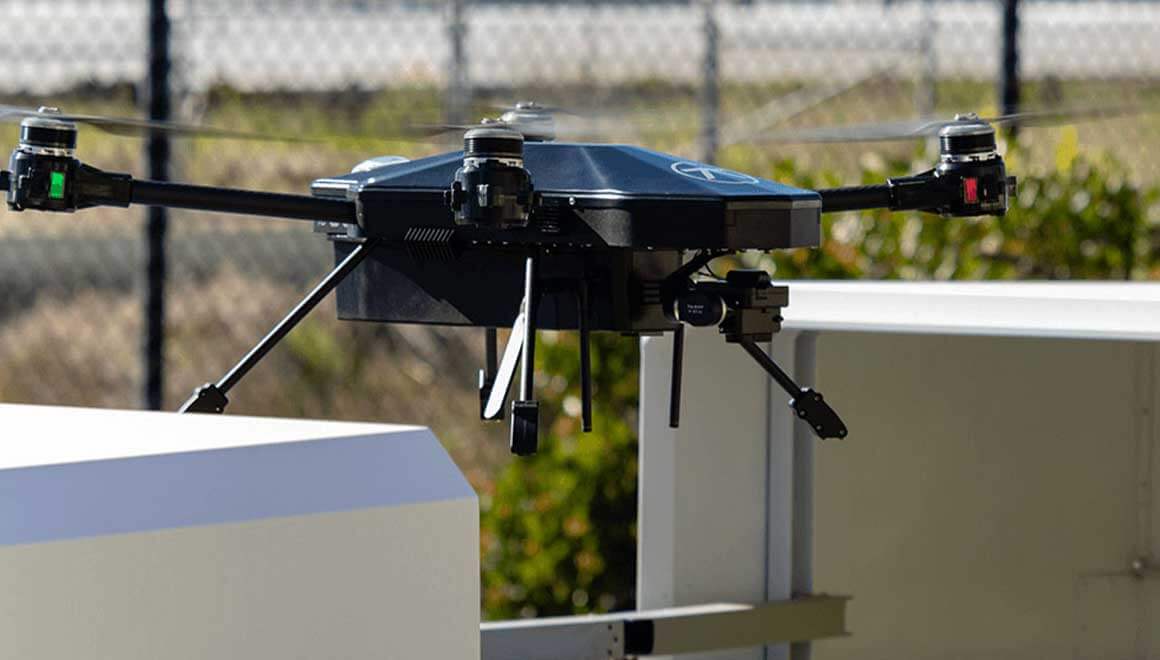
[[[873,162],[865,183],[918,171],[929,159]],[[1056,167],[1027,173],[1020,153],[1015,200],[1002,218],[940,218],[864,211],[825,216],[817,251],[763,255],[777,278],[869,280],[1130,280],[1154,278],[1160,252],[1160,189],[1129,180],[1111,158],[1079,154],[1065,140]],[[828,186],[781,162],[775,177]]]

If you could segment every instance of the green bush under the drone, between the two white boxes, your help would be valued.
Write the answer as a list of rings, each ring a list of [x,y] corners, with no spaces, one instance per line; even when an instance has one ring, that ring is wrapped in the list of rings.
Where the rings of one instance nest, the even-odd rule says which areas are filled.
[[[631,608],[636,574],[637,342],[594,333],[592,434],[580,433],[578,342],[536,348],[543,437],[480,493],[488,618]]]

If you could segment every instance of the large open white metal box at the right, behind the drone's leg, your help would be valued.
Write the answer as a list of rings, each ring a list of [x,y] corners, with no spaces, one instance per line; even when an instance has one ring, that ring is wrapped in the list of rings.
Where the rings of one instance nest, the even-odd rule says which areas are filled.
[[[1160,653],[1160,284],[791,282],[784,317],[848,440],[715,329],[669,429],[643,341],[641,607],[850,594],[821,658]]]

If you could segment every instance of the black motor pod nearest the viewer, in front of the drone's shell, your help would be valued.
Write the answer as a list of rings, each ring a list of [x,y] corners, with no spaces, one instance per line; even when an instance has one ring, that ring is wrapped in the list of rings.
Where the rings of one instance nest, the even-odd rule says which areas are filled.
[[[459,225],[496,229],[528,226],[538,201],[523,167],[523,135],[500,126],[480,126],[463,137],[463,167],[447,198]]]

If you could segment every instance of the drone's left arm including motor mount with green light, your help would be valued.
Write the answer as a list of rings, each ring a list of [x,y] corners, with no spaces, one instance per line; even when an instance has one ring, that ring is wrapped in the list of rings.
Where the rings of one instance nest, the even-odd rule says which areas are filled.
[[[0,174],[0,184],[6,184],[8,191],[8,206],[16,211],[70,212],[92,206],[142,204],[357,223],[355,204],[346,200],[133,179],[129,174],[103,172],[75,159],[41,159],[19,162],[17,166],[15,172]]]

